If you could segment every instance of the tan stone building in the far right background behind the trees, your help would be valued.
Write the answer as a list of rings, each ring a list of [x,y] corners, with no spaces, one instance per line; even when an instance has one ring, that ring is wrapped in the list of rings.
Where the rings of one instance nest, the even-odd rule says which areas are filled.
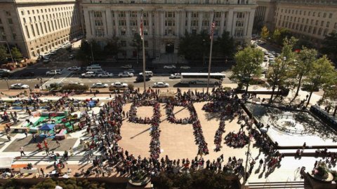
[[[278,0],[275,10],[276,28],[287,28],[313,46],[337,30],[336,0]]]

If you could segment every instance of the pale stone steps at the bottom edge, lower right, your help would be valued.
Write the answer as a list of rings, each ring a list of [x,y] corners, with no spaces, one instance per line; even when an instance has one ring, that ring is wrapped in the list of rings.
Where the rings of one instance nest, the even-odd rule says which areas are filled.
[[[288,181],[288,182],[257,182],[248,183],[249,189],[251,188],[311,188],[305,181]]]

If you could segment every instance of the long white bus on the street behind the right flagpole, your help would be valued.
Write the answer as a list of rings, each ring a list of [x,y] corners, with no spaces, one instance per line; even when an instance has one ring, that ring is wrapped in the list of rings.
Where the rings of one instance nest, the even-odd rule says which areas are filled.
[[[185,84],[207,84],[209,73],[181,73],[180,83]],[[224,73],[210,73],[209,83],[219,85],[225,78]]]

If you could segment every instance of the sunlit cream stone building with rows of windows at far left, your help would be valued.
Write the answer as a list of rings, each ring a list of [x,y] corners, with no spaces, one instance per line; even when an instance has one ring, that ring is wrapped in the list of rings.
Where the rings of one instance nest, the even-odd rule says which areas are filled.
[[[0,1],[0,41],[17,46],[24,57],[44,55],[81,32],[75,0]]]

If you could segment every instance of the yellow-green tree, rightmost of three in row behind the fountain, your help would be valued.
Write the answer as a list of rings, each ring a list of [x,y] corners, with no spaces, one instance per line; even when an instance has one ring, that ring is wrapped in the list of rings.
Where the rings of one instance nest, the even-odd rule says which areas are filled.
[[[310,103],[312,92],[324,87],[324,85],[331,85],[334,82],[336,71],[334,70],[332,62],[324,55],[323,57],[316,59],[312,64],[312,71],[308,73],[305,78],[305,83],[308,84],[309,98],[307,105]]]

